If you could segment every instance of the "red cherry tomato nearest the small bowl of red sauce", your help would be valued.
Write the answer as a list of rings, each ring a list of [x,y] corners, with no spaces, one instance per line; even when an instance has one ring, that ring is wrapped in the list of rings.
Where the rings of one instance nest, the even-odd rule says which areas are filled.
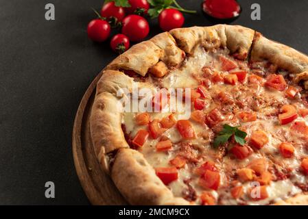
[[[163,10],[158,16],[159,27],[161,27],[163,31],[182,27],[184,20],[182,13],[173,8]]]

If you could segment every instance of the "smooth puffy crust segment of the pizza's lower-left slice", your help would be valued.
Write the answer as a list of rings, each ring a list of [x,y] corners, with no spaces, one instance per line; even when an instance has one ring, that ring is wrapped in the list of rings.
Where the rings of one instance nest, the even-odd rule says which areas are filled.
[[[189,205],[183,198],[174,197],[139,151],[119,149],[111,178],[132,205]]]

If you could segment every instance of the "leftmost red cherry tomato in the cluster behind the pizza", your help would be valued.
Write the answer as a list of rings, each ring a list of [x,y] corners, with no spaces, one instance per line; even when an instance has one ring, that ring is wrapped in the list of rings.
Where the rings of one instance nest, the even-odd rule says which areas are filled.
[[[101,19],[92,20],[88,23],[88,38],[97,42],[105,41],[110,34],[110,25]]]

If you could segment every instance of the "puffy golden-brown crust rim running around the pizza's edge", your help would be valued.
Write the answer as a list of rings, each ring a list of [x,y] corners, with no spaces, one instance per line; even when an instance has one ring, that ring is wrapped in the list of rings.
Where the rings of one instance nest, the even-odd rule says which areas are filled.
[[[106,67],[97,83],[90,120],[91,138],[99,162],[132,205],[189,205],[189,202],[174,197],[143,155],[129,148],[121,129],[122,109],[116,93],[119,88],[130,90],[134,82],[118,70],[134,70],[145,76],[160,60],[169,66],[176,66],[185,57],[183,51],[191,54],[198,44],[202,44],[205,49],[227,47],[230,53],[236,53],[243,60],[248,58],[251,50],[251,61],[270,60],[279,67],[298,74],[294,80],[307,80],[307,73],[304,71],[308,69],[308,57],[241,26],[173,29],[169,33],[158,34],[151,40],[136,44],[119,55]],[[142,82],[139,85],[147,86]],[[111,152],[116,152],[116,155],[109,162],[107,154]],[[109,164],[112,164],[111,169]],[[299,195],[278,204],[305,205],[307,201],[307,195]]]

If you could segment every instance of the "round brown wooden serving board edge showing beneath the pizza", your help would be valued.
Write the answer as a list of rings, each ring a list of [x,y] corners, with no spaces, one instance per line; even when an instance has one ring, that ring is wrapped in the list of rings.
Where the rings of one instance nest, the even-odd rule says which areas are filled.
[[[110,177],[100,168],[94,153],[89,118],[99,73],[86,90],[73,126],[73,158],[82,188],[93,205],[128,205]]]

